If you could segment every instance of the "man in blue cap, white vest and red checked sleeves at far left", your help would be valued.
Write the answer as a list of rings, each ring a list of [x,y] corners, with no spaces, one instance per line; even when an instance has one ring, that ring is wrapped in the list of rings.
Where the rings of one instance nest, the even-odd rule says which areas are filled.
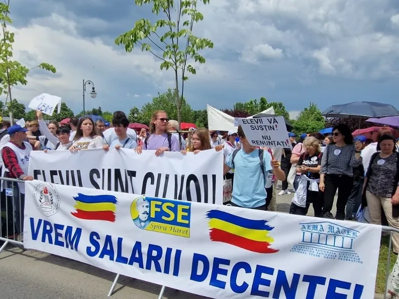
[[[28,175],[28,164],[32,146],[25,142],[28,130],[19,125],[8,128],[9,142],[1,149],[1,159],[4,165],[4,177],[21,180],[33,180]],[[23,209],[25,203],[25,184],[7,181],[7,188],[12,189],[12,205],[15,221],[15,233],[23,232]],[[21,238],[19,238],[21,240]]]

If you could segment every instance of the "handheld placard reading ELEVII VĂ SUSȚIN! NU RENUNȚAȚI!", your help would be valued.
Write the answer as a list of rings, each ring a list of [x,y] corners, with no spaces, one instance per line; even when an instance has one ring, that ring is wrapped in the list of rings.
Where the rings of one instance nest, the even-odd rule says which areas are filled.
[[[284,117],[259,117],[238,122],[251,146],[292,149]]]

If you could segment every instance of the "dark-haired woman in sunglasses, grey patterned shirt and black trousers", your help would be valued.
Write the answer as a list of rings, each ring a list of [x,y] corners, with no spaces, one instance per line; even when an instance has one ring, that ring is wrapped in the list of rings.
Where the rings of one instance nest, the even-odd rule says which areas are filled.
[[[324,191],[323,217],[334,219],[331,209],[338,189],[338,220],[345,219],[345,206],[353,186],[353,167],[362,163],[362,143],[354,145],[351,130],[345,124],[333,128],[333,142],[324,150],[320,168],[319,188]]]

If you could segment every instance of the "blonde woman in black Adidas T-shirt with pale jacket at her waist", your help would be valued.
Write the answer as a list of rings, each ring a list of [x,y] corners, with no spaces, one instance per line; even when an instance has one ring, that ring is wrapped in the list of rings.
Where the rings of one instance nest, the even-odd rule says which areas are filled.
[[[322,217],[323,193],[319,190],[317,182],[320,181],[320,167],[323,153],[319,141],[315,137],[307,137],[303,141],[305,152],[301,153],[296,171],[300,173],[298,188],[292,199],[290,214],[306,215],[310,204],[316,217]],[[312,182],[316,183],[313,190],[309,190]]]

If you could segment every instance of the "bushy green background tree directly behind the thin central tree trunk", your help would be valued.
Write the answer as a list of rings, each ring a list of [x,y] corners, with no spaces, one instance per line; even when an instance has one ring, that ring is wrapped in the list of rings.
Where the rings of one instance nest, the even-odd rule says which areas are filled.
[[[189,103],[187,103],[185,98],[181,99],[181,121],[186,123],[193,122],[193,110]],[[164,110],[169,119],[177,120],[177,98],[176,98],[176,89],[168,89],[167,92],[160,94],[158,93],[158,97],[153,98],[153,101],[145,104],[141,113],[143,115],[145,124],[148,124],[151,120],[151,116],[156,110]]]

